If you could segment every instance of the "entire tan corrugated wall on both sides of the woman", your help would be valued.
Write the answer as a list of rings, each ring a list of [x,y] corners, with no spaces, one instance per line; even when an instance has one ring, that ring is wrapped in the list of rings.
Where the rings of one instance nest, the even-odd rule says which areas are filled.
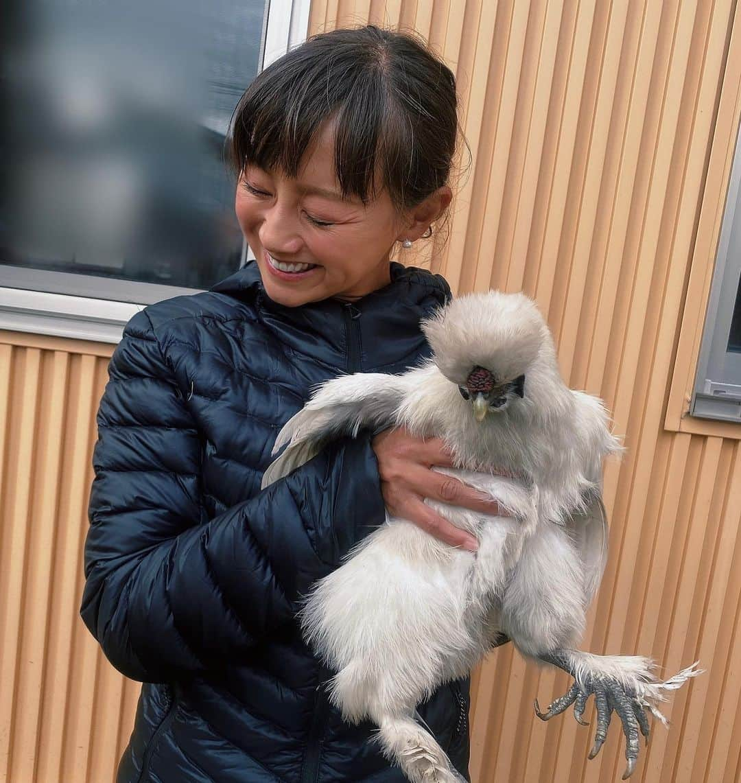
[[[739,15],[732,0],[311,9],[310,32],[412,27],[455,70],[473,166],[448,245],[405,260],[459,292],[533,295],[564,376],[601,395],[625,435],[583,647],[709,669],[667,708],[670,731],[654,724],[632,778],[644,783],[741,779],[741,426],[682,418],[741,117]],[[0,777],[13,783],[110,781],[131,730],[138,685],[77,616],[108,356],[0,332]],[[474,677],[474,781],[620,778],[614,720],[587,761],[591,702],[588,728],[534,719],[534,696],[567,686],[512,645],[491,655]]]

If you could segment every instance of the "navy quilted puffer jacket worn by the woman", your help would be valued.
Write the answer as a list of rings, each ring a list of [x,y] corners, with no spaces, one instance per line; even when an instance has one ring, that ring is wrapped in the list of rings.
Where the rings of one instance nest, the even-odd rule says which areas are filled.
[[[384,518],[370,434],[340,439],[261,491],[282,424],[315,384],[429,355],[419,319],[440,276],[391,266],[352,304],[285,308],[253,263],[134,316],[97,422],[81,615],[142,680],[119,783],[405,778],[326,697],[295,615],[311,584]],[[467,776],[468,682],[420,705]]]

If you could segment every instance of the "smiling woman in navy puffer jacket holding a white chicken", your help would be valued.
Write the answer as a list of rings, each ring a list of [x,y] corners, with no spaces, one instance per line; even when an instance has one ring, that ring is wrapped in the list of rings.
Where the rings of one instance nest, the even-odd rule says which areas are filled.
[[[384,507],[452,546],[476,541],[423,503],[499,513],[430,470],[439,441],[362,432],[264,492],[275,435],[315,384],[429,355],[419,319],[441,276],[390,262],[444,215],[455,80],[413,38],[315,36],[264,70],[230,139],[236,214],[256,262],[150,305],[110,362],[81,615],[142,680],[118,771],[135,781],[403,781],[329,705],[295,615]],[[419,713],[467,775],[467,682]]]

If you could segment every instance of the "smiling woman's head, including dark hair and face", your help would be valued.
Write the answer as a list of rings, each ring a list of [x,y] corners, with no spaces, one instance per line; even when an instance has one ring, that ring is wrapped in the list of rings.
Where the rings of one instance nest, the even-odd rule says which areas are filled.
[[[317,36],[264,70],[236,107],[236,214],[283,305],[386,285],[394,243],[418,239],[450,203],[452,76],[410,38],[383,45],[404,68],[379,56],[380,39],[359,52],[351,31]]]

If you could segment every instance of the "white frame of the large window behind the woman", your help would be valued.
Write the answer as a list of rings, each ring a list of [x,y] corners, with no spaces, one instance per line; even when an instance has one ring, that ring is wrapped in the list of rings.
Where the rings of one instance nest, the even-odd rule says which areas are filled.
[[[269,0],[260,70],[306,40],[310,7],[311,0]],[[243,242],[242,265],[247,258],[254,256]],[[115,298],[106,298],[106,289]],[[146,305],[200,290],[0,265],[0,329],[117,343]]]

